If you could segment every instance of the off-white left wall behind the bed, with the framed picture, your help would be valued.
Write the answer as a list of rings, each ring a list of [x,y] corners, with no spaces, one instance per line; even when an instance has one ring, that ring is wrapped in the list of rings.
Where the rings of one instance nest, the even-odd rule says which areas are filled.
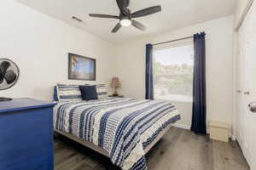
[[[68,53],[96,58],[96,82],[109,83],[113,45],[108,42],[13,0],[1,0],[0,20],[0,58],[13,59],[21,74],[0,96],[51,100],[56,82],[85,83],[67,80]]]

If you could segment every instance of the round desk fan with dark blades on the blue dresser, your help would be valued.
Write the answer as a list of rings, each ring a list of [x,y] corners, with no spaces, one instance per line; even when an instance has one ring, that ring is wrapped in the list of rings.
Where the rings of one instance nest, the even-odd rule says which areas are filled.
[[[20,69],[10,59],[0,59],[0,90],[12,88],[20,77]],[[0,101],[8,101],[10,98],[0,98]]]

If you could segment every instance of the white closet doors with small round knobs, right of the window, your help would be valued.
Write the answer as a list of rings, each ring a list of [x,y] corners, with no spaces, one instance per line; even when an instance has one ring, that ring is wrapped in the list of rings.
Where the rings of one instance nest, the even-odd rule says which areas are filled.
[[[248,150],[248,111],[247,103],[248,101],[248,85],[249,85],[249,56],[247,54],[248,49],[248,28],[250,14],[247,14],[246,19],[241,25],[238,31],[238,58],[237,58],[237,131],[238,131],[238,141],[241,144],[241,149],[244,155],[249,160],[249,150]]]

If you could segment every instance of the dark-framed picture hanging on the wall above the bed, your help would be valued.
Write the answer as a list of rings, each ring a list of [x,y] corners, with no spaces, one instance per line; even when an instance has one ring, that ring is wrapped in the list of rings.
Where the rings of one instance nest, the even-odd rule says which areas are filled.
[[[68,54],[68,79],[96,81],[96,59]]]

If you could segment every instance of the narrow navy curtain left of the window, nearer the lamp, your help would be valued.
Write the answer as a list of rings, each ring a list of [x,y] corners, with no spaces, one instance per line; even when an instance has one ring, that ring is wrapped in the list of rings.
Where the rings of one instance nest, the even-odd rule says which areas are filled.
[[[146,99],[154,99],[153,45],[146,45]]]

